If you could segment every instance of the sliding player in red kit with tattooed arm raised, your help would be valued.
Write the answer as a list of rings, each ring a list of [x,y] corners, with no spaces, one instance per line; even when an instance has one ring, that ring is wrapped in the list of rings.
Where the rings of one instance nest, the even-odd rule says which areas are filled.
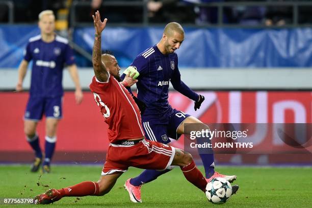
[[[191,154],[144,139],[139,108],[127,90],[115,79],[119,78],[120,70],[116,58],[112,55],[101,55],[101,32],[106,27],[107,19],[102,22],[97,11],[93,20],[95,38],[92,62],[95,76],[90,89],[105,122],[109,125],[110,147],[106,162],[97,182],[84,181],[68,188],[50,189],[36,196],[35,203],[53,203],[68,196],[105,195],[114,187],[118,177],[130,166],[147,169],[165,169],[170,165],[179,166],[186,179],[204,192],[207,182],[196,168]],[[115,63],[116,67],[111,65],[112,67],[106,68],[107,61]],[[125,187],[127,187],[126,184]],[[130,194],[131,190],[128,192]],[[132,201],[141,202],[140,198],[130,196]]]

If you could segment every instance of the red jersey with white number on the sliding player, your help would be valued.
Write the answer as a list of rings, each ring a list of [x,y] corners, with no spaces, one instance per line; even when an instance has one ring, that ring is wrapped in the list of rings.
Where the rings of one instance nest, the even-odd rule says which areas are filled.
[[[110,76],[107,82],[99,82],[94,76],[90,90],[105,122],[109,125],[108,138],[111,143],[144,136],[140,110],[136,102],[113,76]]]

